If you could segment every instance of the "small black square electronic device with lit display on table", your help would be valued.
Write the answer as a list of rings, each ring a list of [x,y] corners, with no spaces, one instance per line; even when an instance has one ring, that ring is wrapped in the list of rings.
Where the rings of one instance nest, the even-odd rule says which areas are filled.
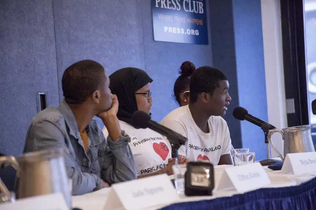
[[[185,195],[212,195],[214,168],[210,162],[189,162],[185,172]]]

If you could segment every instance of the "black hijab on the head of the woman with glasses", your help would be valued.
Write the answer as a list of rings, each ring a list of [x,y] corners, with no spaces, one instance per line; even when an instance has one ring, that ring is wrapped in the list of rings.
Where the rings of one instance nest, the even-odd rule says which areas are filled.
[[[131,116],[137,111],[135,92],[153,80],[139,68],[121,68],[110,76],[110,89],[119,100],[119,120],[131,123]]]

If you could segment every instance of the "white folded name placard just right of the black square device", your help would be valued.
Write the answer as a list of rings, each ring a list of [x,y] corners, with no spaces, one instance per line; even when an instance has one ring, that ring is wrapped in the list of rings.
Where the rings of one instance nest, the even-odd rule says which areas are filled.
[[[216,190],[246,192],[271,184],[260,163],[226,168]]]

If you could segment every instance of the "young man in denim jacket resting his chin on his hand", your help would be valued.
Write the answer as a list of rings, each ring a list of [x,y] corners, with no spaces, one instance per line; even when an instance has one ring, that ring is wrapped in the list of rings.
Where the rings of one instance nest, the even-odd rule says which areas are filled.
[[[81,195],[108,184],[137,178],[129,147],[131,138],[121,131],[118,99],[111,94],[104,68],[91,60],[68,67],[62,78],[64,100],[33,117],[24,153],[63,148],[72,195]],[[103,121],[105,139],[94,116]],[[108,184],[107,184],[108,183]]]

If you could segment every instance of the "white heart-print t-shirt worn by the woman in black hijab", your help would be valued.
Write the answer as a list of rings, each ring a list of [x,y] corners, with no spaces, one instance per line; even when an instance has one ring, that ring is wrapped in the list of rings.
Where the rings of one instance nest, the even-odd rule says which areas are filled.
[[[129,145],[137,165],[137,176],[156,172],[168,165],[171,147],[159,133],[149,128],[136,129],[121,120],[119,124],[131,137]],[[102,132],[105,137],[109,135],[105,126]]]

